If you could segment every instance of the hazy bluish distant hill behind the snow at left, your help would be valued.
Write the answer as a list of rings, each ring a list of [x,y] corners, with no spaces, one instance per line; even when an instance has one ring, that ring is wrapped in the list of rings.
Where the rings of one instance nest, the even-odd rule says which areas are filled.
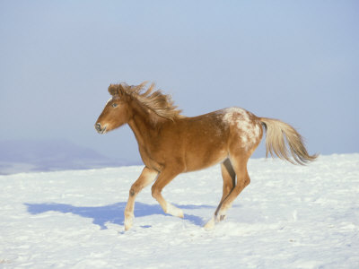
[[[0,141],[0,175],[28,171],[94,169],[131,165],[66,140]]]

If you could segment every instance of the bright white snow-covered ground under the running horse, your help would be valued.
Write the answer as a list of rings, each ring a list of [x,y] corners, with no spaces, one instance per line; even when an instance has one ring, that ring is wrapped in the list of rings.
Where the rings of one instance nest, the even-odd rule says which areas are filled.
[[[219,166],[163,191],[185,213],[162,213],[150,187],[124,232],[128,190],[142,167],[0,176],[2,268],[359,268],[359,154],[307,167],[251,160],[251,184],[214,230]]]

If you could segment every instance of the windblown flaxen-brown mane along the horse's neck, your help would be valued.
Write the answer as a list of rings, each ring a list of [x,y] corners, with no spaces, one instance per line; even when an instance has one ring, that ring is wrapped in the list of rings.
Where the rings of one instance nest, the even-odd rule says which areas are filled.
[[[113,94],[112,91],[120,91],[120,93],[125,93],[137,100],[144,107],[151,109],[155,114],[160,117],[164,117],[170,120],[175,118],[183,117],[180,115],[182,110],[177,109],[177,106],[174,106],[171,95],[163,94],[162,91],[154,90],[154,83],[145,90],[145,85],[147,82],[142,82],[139,85],[129,86],[125,82],[119,84],[111,84],[109,86],[109,93]],[[112,89],[111,89],[112,88]],[[116,89],[116,90],[115,90]],[[145,90],[145,91],[144,91]]]

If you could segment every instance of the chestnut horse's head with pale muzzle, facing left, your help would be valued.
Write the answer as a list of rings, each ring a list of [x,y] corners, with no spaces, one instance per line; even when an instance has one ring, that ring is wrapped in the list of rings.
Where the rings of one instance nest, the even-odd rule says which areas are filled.
[[[95,129],[99,134],[105,134],[113,129],[126,124],[130,117],[128,96],[121,84],[109,85],[111,98],[95,123]]]

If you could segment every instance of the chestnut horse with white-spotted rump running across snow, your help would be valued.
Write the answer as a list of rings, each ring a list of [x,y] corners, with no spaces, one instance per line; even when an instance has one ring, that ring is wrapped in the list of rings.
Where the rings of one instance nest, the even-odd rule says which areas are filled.
[[[294,164],[314,161],[301,134],[293,126],[267,117],[257,117],[243,108],[224,108],[197,117],[185,117],[171,96],[148,88],[146,82],[110,84],[110,98],[95,129],[106,134],[128,124],[136,136],[144,169],[129,190],[125,208],[125,230],[134,221],[136,195],[153,183],[153,198],[164,213],[183,218],[183,212],[162,196],[162,189],[180,173],[206,169],[220,163],[223,195],[214,216],[205,225],[211,229],[223,221],[234,199],[250,184],[247,162],[266,131],[266,157]],[[146,89],[147,88],[147,89]],[[286,143],[285,143],[286,139]],[[288,151],[289,149],[289,151]]]

